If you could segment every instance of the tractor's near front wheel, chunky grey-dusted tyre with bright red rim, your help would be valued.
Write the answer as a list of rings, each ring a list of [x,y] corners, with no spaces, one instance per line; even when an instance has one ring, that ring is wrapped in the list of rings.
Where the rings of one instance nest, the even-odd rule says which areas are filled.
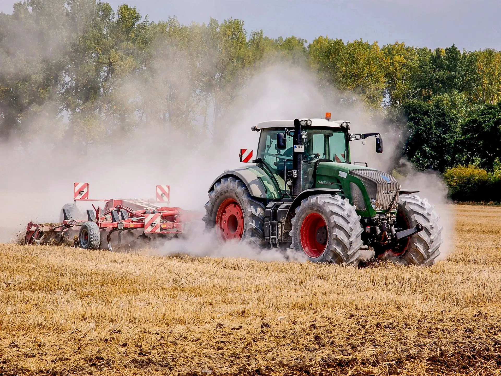
[[[358,265],[362,226],[348,199],[313,195],[301,202],[292,219],[292,248],[312,262]]]

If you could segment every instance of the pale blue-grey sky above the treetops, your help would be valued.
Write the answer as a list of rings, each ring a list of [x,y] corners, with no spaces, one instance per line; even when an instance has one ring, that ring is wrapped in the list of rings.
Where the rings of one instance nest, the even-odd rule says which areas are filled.
[[[396,41],[428,48],[501,50],[501,1],[474,0],[109,0],[114,9],[135,6],[151,21],[177,16],[182,24],[236,18],[247,32],[272,37],[294,35],[312,42],[329,36],[353,41]],[[12,13],[12,0],[0,0],[0,12]]]

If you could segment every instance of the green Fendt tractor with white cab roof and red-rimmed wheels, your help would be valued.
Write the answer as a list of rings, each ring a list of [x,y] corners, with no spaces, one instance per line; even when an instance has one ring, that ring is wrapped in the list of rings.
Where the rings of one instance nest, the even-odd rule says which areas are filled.
[[[292,248],[313,262],[358,265],[361,250],[372,249],[397,264],[433,265],[442,243],[434,207],[392,175],[352,163],[350,142],[376,136],[382,153],[383,140],[349,129],[330,119],[253,126],[261,133],[256,159],[210,185],[206,229],[221,243]],[[240,161],[250,158],[240,151]]]

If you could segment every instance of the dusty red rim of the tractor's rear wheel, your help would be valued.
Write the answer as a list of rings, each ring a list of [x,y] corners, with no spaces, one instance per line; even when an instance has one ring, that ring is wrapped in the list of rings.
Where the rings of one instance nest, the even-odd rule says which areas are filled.
[[[216,233],[221,242],[240,240],[243,234],[243,212],[233,199],[226,199],[217,210]]]

